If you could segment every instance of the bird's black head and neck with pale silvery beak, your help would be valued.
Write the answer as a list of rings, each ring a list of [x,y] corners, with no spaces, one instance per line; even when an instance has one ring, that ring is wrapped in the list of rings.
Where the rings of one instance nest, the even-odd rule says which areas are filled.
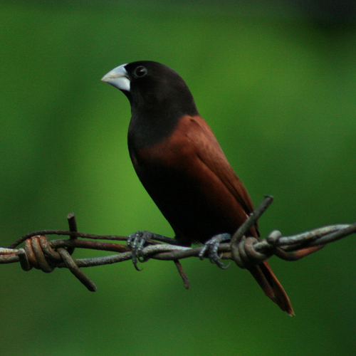
[[[164,64],[153,61],[122,64],[102,80],[120,89],[130,100],[130,152],[169,137],[184,115],[198,115],[187,84]]]

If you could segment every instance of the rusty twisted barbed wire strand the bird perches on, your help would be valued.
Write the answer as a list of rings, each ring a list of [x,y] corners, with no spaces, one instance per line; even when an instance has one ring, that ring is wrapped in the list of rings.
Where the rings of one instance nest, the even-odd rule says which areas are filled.
[[[274,230],[266,239],[258,240],[253,237],[246,237],[246,231],[255,224],[257,219],[271,205],[272,201],[272,197],[265,197],[260,206],[231,236],[231,242],[216,244],[216,246],[212,246],[213,251],[219,253],[219,257],[223,260],[232,260],[240,268],[249,268],[273,255],[285,261],[298,261],[300,258],[320,250],[326,244],[356,232],[356,224],[338,224],[323,226],[291,236],[283,236],[280,231]],[[127,241],[129,236],[83,234],[77,231],[73,213],[68,214],[67,219],[69,231],[34,231],[22,236],[8,248],[0,247],[0,263],[19,262],[23,271],[37,268],[46,273],[50,273],[55,268],[68,268],[88,290],[95,291],[97,287],[80,268],[132,260],[132,251],[127,245],[100,241]],[[47,235],[69,236],[69,239],[49,241]],[[152,236],[155,236],[155,234],[152,234]],[[23,248],[16,248],[22,243],[24,243]],[[115,254],[73,259],[72,254],[75,248],[90,248],[98,251],[115,252]],[[206,246],[190,248],[161,244],[150,239],[146,241],[145,246],[140,250],[140,262],[148,261],[150,258],[174,261],[185,288],[189,288],[187,275],[184,273],[179,260],[190,257],[209,257],[209,253],[211,251],[208,251]]]

